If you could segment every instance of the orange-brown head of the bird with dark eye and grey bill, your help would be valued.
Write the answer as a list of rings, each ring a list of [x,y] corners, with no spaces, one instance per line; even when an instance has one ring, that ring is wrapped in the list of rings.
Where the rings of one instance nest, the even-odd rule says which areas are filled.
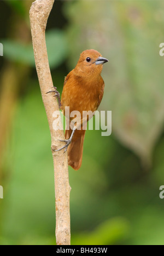
[[[103,64],[106,62],[108,62],[108,60],[103,58],[97,50],[84,50],[84,52],[80,54],[78,64],[74,70],[79,76],[96,76],[101,74]]]

